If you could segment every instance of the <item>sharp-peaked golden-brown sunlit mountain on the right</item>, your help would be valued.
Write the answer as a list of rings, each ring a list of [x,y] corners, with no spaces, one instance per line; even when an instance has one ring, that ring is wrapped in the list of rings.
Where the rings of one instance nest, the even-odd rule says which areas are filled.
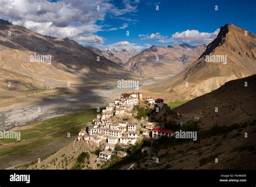
[[[256,37],[253,33],[226,24],[197,61],[178,75],[143,90],[157,90],[169,95],[171,101],[204,95],[228,81],[255,74],[255,47]]]

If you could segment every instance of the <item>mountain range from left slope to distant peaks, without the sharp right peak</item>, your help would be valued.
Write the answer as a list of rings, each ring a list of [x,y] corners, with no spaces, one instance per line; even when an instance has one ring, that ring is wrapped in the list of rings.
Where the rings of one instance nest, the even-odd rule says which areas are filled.
[[[141,53],[137,49],[100,50],[68,38],[41,35],[4,19],[0,19],[0,37],[0,90],[66,87],[67,82],[79,87],[87,82],[89,87],[89,82],[105,85],[102,81],[93,83],[103,77],[176,74],[205,50],[205,46],[188,44],[152,46]],[[31,62],[31,56],[50,56],[51,63]],[[153,61],[156,56],[159,61]],[[160,72],[161,68],[164,72]]]

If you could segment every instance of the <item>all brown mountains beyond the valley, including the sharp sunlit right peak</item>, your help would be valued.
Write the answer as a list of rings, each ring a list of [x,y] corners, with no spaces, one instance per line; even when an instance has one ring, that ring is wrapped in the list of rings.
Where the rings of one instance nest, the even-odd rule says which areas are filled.
[[[255,74],[255,54],[255,35],[233,24],[221,27],[207,47],[151,46],[139,52],[84,47],[68,38],[41,35],[0,19],[0,90],[38,89],[44,84],[66,87],[67,82],[97,87],[105,85],[108,78],[177,74],[142,90],[159,92],[173,101],[188,100]],[[31,62],[31,56],[36,55],[51,56],[51,63]],[[213,62],[216,57],[223,59]]]

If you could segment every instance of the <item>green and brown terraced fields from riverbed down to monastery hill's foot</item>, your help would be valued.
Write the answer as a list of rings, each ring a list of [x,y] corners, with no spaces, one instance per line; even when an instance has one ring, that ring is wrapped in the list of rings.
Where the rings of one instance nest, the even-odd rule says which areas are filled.
[[[21,140],[0,139],[0,168],[17,166],[56,152],[72,142],[96,114],[96,109],[87,109],[15,127],[13,131],[21,131]]]

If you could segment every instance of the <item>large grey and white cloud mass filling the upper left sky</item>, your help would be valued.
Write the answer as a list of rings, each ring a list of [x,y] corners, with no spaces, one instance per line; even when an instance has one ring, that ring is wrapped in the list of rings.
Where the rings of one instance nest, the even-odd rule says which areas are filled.
[[[13,24],[24,25],[44,35],[102,44],[103,38],[95,33],[117,28],[104,30],[97,21],[104,21],[107,13],[115,17],[134,12],[137,3],[124,0],[124,8],[118,9],[111,1],[105,0],[60,0],[54,3],[46,0],[1,0],[0,15],[13,21]]]

